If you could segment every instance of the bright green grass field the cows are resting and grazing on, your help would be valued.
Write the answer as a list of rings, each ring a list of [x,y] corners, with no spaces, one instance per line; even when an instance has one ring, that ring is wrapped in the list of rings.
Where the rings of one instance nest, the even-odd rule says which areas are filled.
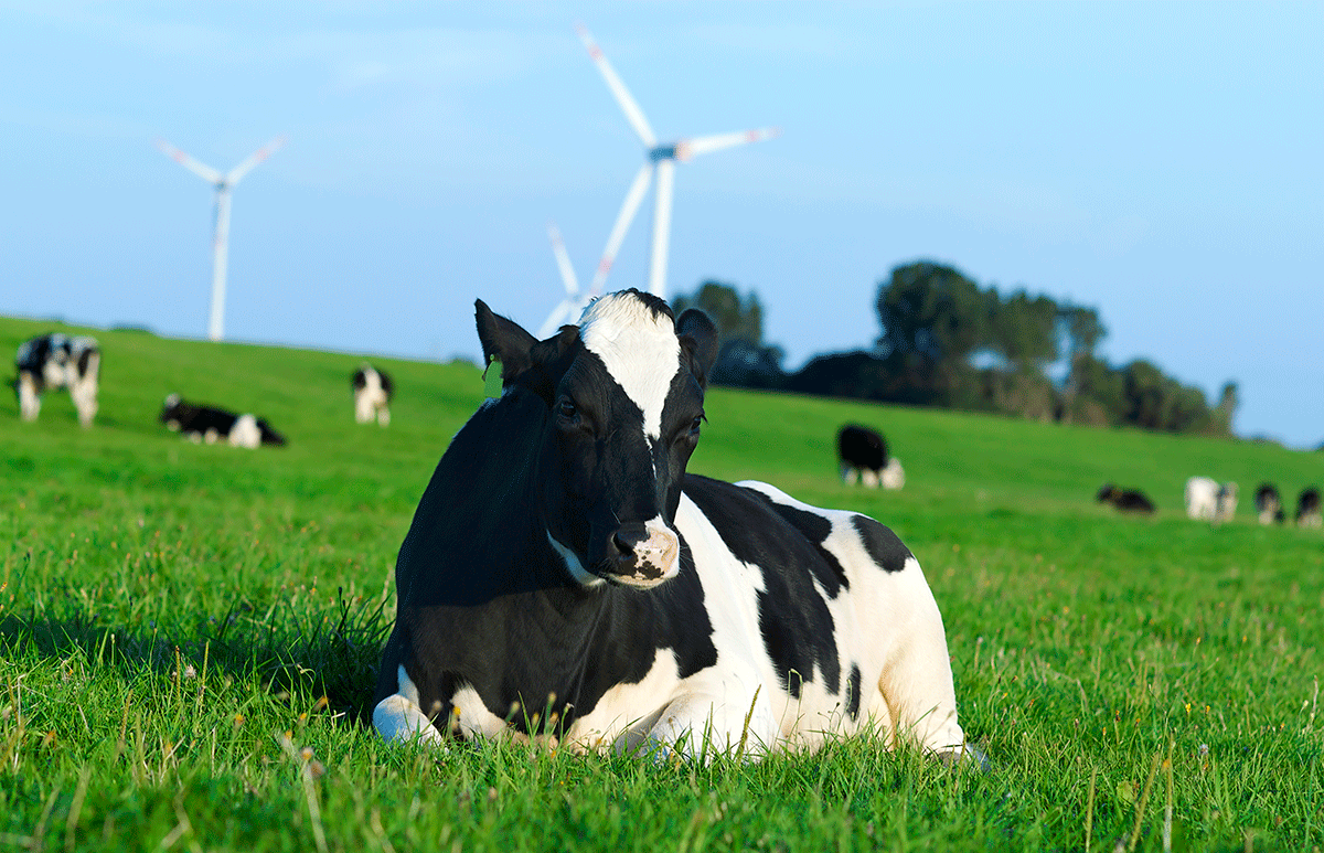
[[[50,323],[0,319],[0,352]],[[871,742],[654,766],[504,743],[388,747],[363,725],[389,577],[466,364],[94,332],[101,415],[0,404],[0,848],[32,850],[1173,849],[1324,845],[1324,534],[1249,495],[1324,454],[718,389],[691,470],[891,526],[943,608],[963,723],[993,770]],[[253,411],[285,449],[181,441],[163,397]],[[900,493],[847,489],[831,436],[880,426]],[[1185,478],[1238,518],[1181,513]],[[1153,519],[1092,502],[1139,486]]]

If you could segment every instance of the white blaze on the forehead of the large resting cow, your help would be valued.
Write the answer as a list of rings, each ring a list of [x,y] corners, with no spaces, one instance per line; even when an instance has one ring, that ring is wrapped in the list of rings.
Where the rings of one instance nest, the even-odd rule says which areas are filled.
[[[643,434],[659,438],[666,395],[681,370],[671,318],[655,314],[634,294],[613,293],[584,310],[580,340],[643,412]]]

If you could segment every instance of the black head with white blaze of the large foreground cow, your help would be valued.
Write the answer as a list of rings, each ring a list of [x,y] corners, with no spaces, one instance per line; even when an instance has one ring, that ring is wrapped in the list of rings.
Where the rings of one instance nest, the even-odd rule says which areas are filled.
[[[679,571],[681,479],[699,441],[718,332],[703,311],[626,290],[538,340],[477,303],[506,393],[542,397],[539,521],[571,575],[653,587]]]

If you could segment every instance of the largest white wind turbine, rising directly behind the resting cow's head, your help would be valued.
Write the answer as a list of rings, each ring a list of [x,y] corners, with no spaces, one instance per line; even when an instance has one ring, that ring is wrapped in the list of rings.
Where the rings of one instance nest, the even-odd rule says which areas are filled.
[[[761,127],[757,130],[743,130],[731,134],[715,134],[711,136],[691,136],[688,139],[679,139],[670,143],[658,143],[657,135],[649,126],[649,119],[645,118],[643,110],[636,103],[634,97],[617,77],[616,70],[612,64],[606,61],[602,56],[601,48],[593,41],[593,36],[589,34],[588,29],[579,24],[576,26],[579,32],[580,41],[588,49],[589,57],[593,58],[593,64],[597,65],[597,70],[602,74],[602,79],[606,81],[606,87],[612,90],[612,95],[616,97],[616,102],[620,105],[621,111],[625,113],[625,119],[634,128],[634,135],[639,138],[643,143],[645,154],[647,159],[639,171],[634,175],[634,181],[630,184],[629,191],[625,193],[625,204],[621,205],[621,212],[616,217],[616,224],[612,226],[612,233],[606,238],[606,248],[602,250],[602,260],[598,261],[597,272],[593,274],[593,283],[589,287],[589,297],[596,297],[602,293],[602,285],[606,283],[606,274],[612,269],[612,262],[616,261],[616,253],[621,248],[621,242],[625,240],[625,232],[630,228],[630,221],[634,219],[634,213],[639,209],[639,203],[643,201],[643,195],[649,191],[649,184],[653,183],[653,174],[657,172],[658,189],[653,199],[653,249],[649,261],[649,291],[653,295],[666,298],[666,261],[667,249],[671,240],[671,192],[675,179],[675,164],[679,160],[685,163],[686,160],[694,159],[700,154],[712,154],[714,151],[722,151],[723,148],[732,148],[735,146],[748,144],[751,142],[761,142],[764,139],[772,139],[781,134],[776,127]]]

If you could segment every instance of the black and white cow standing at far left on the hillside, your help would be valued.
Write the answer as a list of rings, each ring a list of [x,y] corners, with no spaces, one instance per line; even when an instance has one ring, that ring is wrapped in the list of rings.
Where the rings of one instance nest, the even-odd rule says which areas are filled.
[[[13,359],[19,376],[19,413],[25,421],[37,420],[41,393],[48,388],[69,388],[78,411],[78,423],[91,426],[97,416],[97,380],[101,375],[101,348],[95,338],[70,338],[54,331],[19,344]]]

